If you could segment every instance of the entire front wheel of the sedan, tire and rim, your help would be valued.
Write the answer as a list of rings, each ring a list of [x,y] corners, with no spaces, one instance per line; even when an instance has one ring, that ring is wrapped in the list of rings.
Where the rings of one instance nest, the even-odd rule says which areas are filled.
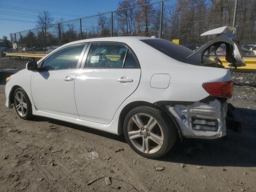
[[[32,106],[28,95],[22,88],[17,88],[14,92],[14,107],[22,119],[29,119],[32,117]]]

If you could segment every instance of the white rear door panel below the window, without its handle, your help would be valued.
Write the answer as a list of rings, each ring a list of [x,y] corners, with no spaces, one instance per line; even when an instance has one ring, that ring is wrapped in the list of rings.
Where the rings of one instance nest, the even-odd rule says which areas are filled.
[[[132,82],[118,82],[119,78],[130,78]],[[120,104],[136,90],[139,81],[140,69],[80,69],[75,81],[80,119],[110,123]]]

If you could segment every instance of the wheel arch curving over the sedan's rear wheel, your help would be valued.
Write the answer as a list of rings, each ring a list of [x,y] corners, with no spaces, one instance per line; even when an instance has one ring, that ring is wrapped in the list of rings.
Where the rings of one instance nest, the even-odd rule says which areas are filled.
[[[176,129],[178,131],[178,135],[180,137],[180,140],[182,140],[182,132],[180,130],[180,127],[178,126],[178,123],[176,122],[173,114],[171,114],[171,112],[169,112],[166,109],[164,109],[164,107],[160,107],[160,106],[157,106],[155,104],[152,104],[150,102],[146,102],[146,101],[134,101],[134,102],[131,102],[129,104],[127,104],[123,109],[122,111],[120,112],[120,115],[119,115],[119,119],[118,119],[118,134],[123,134],[123,125],[124,125],[124,118],[126,117],[126,114],[132,110],[133,108],[136,108],[136,107],[139,107],[139,106],[148,106],[148,107],[153,107],[153,108],[157,108],[158,110],[161,110],[162,112],[164,112],[164,114],[168,117],[171,118],[171,120],[174,122],[175,126],[176,126]]]

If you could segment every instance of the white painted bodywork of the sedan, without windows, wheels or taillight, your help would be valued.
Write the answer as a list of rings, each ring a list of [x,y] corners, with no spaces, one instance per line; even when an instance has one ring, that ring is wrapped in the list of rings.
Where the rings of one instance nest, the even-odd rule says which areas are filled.
[[[11,80],[6,84],[6,106],[11,107],[9,94],[12,87],[20,86],[30,98],[34,115],[122,134],[122,128],[118,129],[120,113],[132,102],[143,101],[151,104],[159,101],[193,102],[188,106],[166,105],[178,122],[182,136],[190,138],[224,136],[226,106],[218,100],[208,104],[200,100],[209,96],[202,84],[232,80],[229,70],[179,62],[141,42],[142,39],[151,38],[96,38],[61,46],[46,57],[73,44],[95,41],[122,42],[132,48],[140,63],[140,69],[79,69],[78,65],[78,68],[73,70],[49,71],[47,78],[47,75],[42,76],[40,72],[25,69],[12,75]],[[146,50],[146,53],[142,50]],[[40,64],[43,60],[44,58],[37,63]],[[82,60],[82,67],[84,62],[85,58]],[[74,81],[63,81],[66,76],[71,76]],[[132,82],[116,81],[122,77],[130,78]],[[188,122],[192,115],[216,118],[217,132],[192,130]],[[182,116],[186,116],[186,120],[183,120]]]

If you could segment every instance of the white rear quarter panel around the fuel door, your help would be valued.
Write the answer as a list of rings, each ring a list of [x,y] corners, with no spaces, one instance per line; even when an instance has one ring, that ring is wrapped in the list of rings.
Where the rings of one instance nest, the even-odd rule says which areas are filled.
[[[136,91],[118,108],[113,118],[114,120],[118,120],[122,109],[131,102],[195,102],[209,96],[202,87],[204,82],[224,82],[232,80],[229,70],[182,63],[166,56],[143,42],[132,42],[128,45],[134,50],[140,62],[140,84]],[[168,88],[152,88],[150,86],[150,80],[154,74],[170,74],[170,84]]]

